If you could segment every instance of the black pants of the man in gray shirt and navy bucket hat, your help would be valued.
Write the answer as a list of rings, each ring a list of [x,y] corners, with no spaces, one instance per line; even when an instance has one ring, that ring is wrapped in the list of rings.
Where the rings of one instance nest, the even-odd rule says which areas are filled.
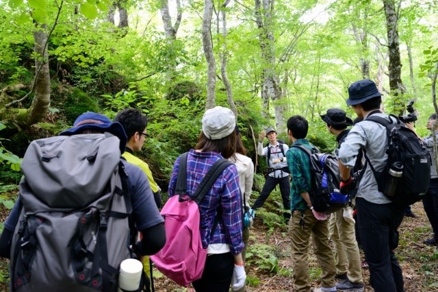
[[[404,217],[404,207],[374,204],[356,199],[357,219],[365,259],[370,266],[370,284],[376,292],[402,292],[403,275],[394,249],[398,246],[397,228]]]

